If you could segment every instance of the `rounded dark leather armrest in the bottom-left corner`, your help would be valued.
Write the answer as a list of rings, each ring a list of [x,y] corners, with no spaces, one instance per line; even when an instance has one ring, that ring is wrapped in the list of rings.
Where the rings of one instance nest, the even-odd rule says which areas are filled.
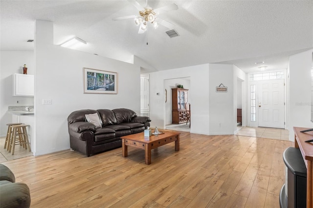
[[[30,191],[26,184],[7,183],[0,186],[1,208],[29,208]]]

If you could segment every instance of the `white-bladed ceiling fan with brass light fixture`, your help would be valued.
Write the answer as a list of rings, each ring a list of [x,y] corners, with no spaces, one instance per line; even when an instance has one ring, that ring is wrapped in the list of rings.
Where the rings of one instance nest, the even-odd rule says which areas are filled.
[[[129,1],[139,10],[139,15],[117,17],[113,18],[112,20],[116,21],[116,20],[134,19],[135,24],[137,26],[139,25],[138,34],[142,34],[147,30],[149,22],[153,25],[154,28],[157,28],[158,25],[160,24],[169,29],[174,29],[175,27],[174,24],[159,18],[157,15],[163,12],[177,10],[178,6],[175,3],[157,9],[153,9],[148,6],[148,0],[146,1],[147,3],[145,7],[141,6],[136,0]]]

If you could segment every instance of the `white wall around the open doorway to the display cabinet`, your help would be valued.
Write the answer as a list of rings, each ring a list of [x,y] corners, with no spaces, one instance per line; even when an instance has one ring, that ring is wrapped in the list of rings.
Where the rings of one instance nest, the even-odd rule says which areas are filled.
[[[209,133],[209,64],[150,73],[150,118],[151,126],[165,128],[164,80],[190,77],[190,101],[192,101],[191,133]],[[184,85],[185,87],[185,85]],[[160,95],[156,96],[159,92]],[[166,115],[171,116],[170,115]]]

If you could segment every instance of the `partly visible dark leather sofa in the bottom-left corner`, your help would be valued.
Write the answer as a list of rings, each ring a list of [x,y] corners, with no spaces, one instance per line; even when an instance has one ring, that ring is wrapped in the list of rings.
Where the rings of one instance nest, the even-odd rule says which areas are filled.
[[[30,192],[26,184],[15,183],[13,172],[0,164],[0,208],[29,208]]]

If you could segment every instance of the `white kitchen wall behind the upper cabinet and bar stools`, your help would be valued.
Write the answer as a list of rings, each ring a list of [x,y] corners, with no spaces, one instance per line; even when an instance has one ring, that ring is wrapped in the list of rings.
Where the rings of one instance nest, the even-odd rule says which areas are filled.
[[[0,60],[0,137],[3,137],[7,132],[6,124],[12,123],[12,114],[7,113],[8,106],[34,104],[34,97],[12,96],[12,74],[22,74],[24,64],[27,65],[27,74],[35,73],[34,52],[1,51]]]

